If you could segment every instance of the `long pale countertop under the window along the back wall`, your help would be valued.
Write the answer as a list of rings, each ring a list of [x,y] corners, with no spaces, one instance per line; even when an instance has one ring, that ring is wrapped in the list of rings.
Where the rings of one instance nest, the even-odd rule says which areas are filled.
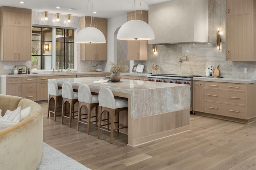
[[[31,72],[31,74],[1,74],[0,77],[11,78],[11,77],[33,77],[33,76],[65,76],[65,75],[80,75],[80,74],[108,74],[106,71],[101,72]]]

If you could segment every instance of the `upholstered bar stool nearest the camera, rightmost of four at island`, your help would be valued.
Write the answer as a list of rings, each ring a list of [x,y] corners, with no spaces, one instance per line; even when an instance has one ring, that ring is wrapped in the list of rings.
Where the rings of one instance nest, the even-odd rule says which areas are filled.
[[[117,133],[119,133],[119,129],[128,127],[126,125],[122,125],[119,123],[119,112],[122,110],[128,111],[128,99],[115,99],[114,94],[109,88],[101,88],[99,92],[99,106],[100,106],[99,107],[100,119],[99,119],[99,125],[98,125],[98,139],[100,139],[100,129],[102,126],[104,126],[104,125],[101,125],[102,113],[104,111],[108,111],[108,113],[111,116],[110,143],[112,143],[114,130],[117,130]],[[118,115],[117,122],[115,122],[116,115]],[[117,123],[116,129],[114,129],[115,123]]]

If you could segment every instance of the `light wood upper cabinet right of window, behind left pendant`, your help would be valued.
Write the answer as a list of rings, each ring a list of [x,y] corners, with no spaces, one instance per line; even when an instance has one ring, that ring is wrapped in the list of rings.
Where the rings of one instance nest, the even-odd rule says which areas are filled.
[[[86,19],[86,21],[85,21]],[[90,27],[91,18],[81,17],[80,18],[80,29],[84,27]],[[98,28],[104,34],[106,38],[106,43],[102,44],[80,44],[80,61],[107,61],[107,41],[108,41],[108,19],[105,18],[95,18],[92,21],[92,27]]]

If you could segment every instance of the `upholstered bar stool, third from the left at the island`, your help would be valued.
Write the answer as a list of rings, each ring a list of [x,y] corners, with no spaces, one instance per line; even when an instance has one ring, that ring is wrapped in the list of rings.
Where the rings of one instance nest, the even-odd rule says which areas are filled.
[[[98,95],[92,95],[90,88],[82,84],[78,88],[78,121],[77,121],[77,130],[79,131],[80,123],[87,124],[87,134],[89,135],[90,133],[90,124],[93,122],[96,122],[96,126],[98,125],[98,106],[99,105],[99,97]],[[88,115],[85,118],[81,118],[81,109],[82,106],[87,107],[88,109],[88,114],[83,114],[83,115]],[[95,116],[92,115],[92,109],[95,108]],[[95,117],[96,121],[91,121],[91,118]],[[82,119],[87,119],[87,123],[84,121],[81,121]]]

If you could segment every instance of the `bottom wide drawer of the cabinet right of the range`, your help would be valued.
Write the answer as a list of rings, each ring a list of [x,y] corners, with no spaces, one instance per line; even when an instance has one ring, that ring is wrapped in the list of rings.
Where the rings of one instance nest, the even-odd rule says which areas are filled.
[[[245,106],[220,104],[220,103],[214,103],[214,102],[204,102],[204,112],[215,114],[215,115],[235,117],[238,119],[246,119]]]

